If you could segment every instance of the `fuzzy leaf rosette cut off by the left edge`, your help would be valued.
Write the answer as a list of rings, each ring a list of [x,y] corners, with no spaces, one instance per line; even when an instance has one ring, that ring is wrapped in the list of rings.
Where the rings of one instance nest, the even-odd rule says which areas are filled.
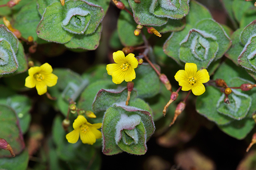
[[[4,25],[0,24],[0,74],[18,69],[18,39]]]

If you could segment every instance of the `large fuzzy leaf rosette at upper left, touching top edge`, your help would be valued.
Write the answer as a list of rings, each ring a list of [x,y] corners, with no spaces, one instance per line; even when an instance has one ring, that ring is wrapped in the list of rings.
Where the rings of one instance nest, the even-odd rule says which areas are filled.
[[[94,50],[99,45],[104,11],[84,0],[70,0],[62,6],[53,2],[45,8],[37,27],[38,37],[68,48]]]

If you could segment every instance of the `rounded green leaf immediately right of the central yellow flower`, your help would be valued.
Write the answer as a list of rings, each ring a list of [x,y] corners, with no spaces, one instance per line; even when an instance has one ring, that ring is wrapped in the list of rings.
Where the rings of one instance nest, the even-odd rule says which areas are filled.
[[[158,65],[155,65],[158,67]],[[142,64],[135,69],[134,89],[139,98],[153,97],[160,90],[160,80],[155,70],[149,64]]]

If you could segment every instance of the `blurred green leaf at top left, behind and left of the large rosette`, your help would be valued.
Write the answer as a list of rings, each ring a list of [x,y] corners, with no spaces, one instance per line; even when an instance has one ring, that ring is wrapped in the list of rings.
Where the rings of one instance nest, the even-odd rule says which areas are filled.
[[[14,17],[14,28],[18,29],[22,37],[28,38],[32,36],[34,41],[37,43],[47,43],[37,37],[36,28],[41,20],[41,16],[37,11],[36,0],[32,0],[30,3],[26,4],[21,8],[21,10]]]

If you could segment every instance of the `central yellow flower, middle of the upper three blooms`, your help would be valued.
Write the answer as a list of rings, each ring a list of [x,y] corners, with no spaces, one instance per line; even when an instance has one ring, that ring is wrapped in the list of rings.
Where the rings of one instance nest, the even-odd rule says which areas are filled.
[[[138,66],[138,60],[134,54],[130,53],[125,57],[123,51],[117,51],[113,53],[113,59],[115,63],[108,64],[107,71],[115,84],[120,84],[124,80],[129,82],[135,79],[134,69]]]

